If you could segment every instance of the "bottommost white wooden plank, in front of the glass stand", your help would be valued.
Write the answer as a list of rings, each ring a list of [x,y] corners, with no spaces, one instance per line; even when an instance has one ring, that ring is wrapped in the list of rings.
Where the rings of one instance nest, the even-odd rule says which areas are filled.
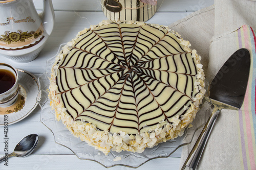
[[[4,155],[0,155],[4,156]],[[138,170],[147,169],[179,169],[180,158],[153,159],[138,167]],[[1,169],[97,169],[105,170],[101,164],[90,161],[80,160],[75,155],[37,155],[31,154],[25,158],[12,157],[8,159],[8,167],[2,162]],[[114,166],[111,170],[133,169],[124,166]]]

